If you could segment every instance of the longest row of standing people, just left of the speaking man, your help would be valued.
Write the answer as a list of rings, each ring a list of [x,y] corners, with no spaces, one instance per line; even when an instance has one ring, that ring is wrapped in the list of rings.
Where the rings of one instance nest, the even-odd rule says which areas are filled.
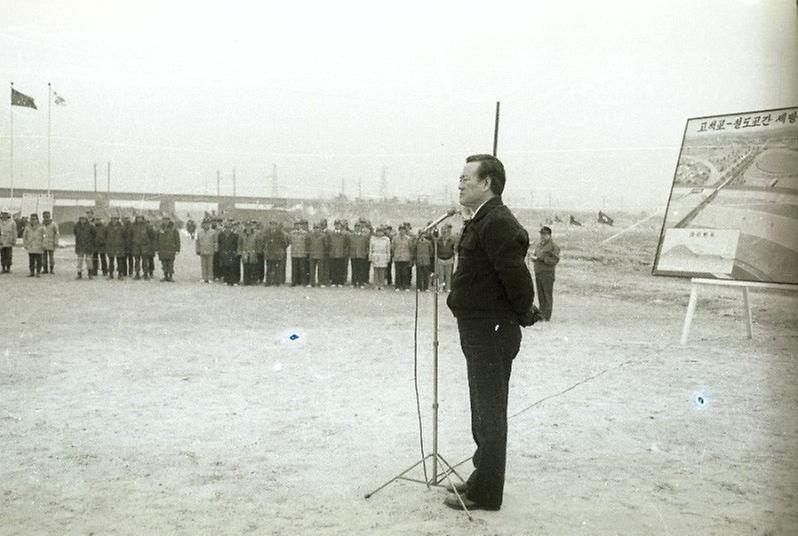
[[[418,288],[428,290],[437,246],[440,285],[451,285],[455,257],[451,226],[443,228],[440,236],[428,236],[413,235],[408,223],[395,231],[390,225],[374,228],[363,219],[353,229],[346,220],[333,225],[328,229],[321,220],[310,227],[307,220],[300,220],[289,230],[275,221],[263,227],[254,220],[204,220],[196,235],[202,280],[278,286],[290,273],[291,286],[370,284],[382,289],[395,281],[397,290],[409,290],[415,267]]]

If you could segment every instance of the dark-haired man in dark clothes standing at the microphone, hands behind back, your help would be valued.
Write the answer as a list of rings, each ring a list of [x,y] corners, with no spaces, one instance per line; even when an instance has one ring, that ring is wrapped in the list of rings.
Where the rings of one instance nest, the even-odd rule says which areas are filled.
[[[494,156],[466,159],[460,204],[472,212],[457,246],[446,303],[457,318],[471,399],[474,471],[444,504],[469,510],[502,505],[507,457],[507,395],[521,326],[532,325],[534,289],[525,257],[529,236],[502,203],[504,166]],[[450,491],[454,491],[450,489]]]

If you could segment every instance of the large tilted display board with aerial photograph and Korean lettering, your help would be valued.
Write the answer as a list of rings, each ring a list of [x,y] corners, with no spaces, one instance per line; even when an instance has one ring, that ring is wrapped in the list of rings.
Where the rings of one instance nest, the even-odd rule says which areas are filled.
[[[798,107],[687,120],[653,273],[798,284]]]

